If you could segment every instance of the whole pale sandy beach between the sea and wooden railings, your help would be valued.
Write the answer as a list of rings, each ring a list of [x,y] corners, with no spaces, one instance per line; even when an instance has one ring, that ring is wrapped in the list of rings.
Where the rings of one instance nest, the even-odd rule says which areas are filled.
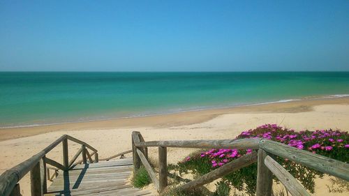
[[[0,173],[30,158],[63,134],[76,137],[98,149],[100,158],[131,149],[131,132],[140,131],[144,140],[214,140],[234,139],[243,130],[265,123],[276,123],[295,130],[349,130],[349,98],[319,98],[146,116],[130,119],[66,123],[53,126],[0,129]],[[70,157],[80,146],[70,145]],[[168,149],[168,162],[177,163],[193,149]],[[157,149],[149,156],[157,158]],[[47,157],[61,160],[61,146]],[[346,195],[328,193],[322,179],[315,195]],[[29,176],[20,182],[23,195],[30,194]]]

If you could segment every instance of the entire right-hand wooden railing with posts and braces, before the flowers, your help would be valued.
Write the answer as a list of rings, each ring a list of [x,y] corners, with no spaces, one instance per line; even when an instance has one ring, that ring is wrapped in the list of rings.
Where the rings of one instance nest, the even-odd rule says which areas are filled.
[[[148,147],[158,147],[158,177],[148,161]],[[198,149],[253,149],[252,153],[246,154],[232,162],[214,169],[194,181],[190,181],[177,187],[177,190],[190,190],[192,188],[210,183],[222,176],[234,172],[237,169],[258,163],[257,172],[257,196],[272,195],[272,179],[274,174],[283,183],[285,188],[293,196],[310,195],[306,189],[279,163],[272,155],[281,156],[316,169],[325,174],[339,177],[349,181],[349,164],[339,160],[313,154],[308,151],[265,140],[257,139],[237,139],[237,140],[177,140],[177,141],[151,141],[145,142],[139,132],[132,133],[133,165],[134,172],[140,168],[140,163],[144,165],[147,172],[158,189],[163,192],[168,186],[168,169],[167,169],[167,148],[198,148]]]

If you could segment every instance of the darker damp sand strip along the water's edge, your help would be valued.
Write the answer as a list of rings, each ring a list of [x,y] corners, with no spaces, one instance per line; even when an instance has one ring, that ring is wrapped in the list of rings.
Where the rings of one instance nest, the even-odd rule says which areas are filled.
[[[221,107],[203,110],[192,110],[170,114],[155,114],[150,116],[135,116],[119,119],[103,119],[96,121],[80,121],[71,123],[57,123],[39,126],[24,126],[13,128],[0,128],[0,141],[20,137],[29,137],[54,131],[70,130],[103,130],[110,128],[139,128],[139,127],[168,127],[186,126],[202,123],[214,119],[222,114],[236,113],[297,113],[310,112],[316,105],[349,105],[348,96],[329,96],[304,98],[272,103],[258,103],[252,105],[239,105],[235,107]]]

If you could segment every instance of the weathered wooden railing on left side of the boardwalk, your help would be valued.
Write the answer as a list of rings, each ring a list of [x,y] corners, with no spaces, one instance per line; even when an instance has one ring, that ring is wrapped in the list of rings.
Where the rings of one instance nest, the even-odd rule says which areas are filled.
[[[81,144],[81,148],[71,160],[68,159],[68,140]],[[46,157],[46,154],[50,152],[58,144],[63,144],[63,163],[59,163],[56,160],[52,160]],[[89,153],[88,149],[92,151]],[[75,161],[82,154],[82,160]],[[92,158],[94,156],[94,158]],[[54,176],[57,176],[59,169],[68,171],[80,163],[98,163],[98,152],[89,144],[77,140],[69,135],[63,135],[58,140],[47,146],[43,151],[40,151],[36,155],[32,156],[28,160],[20,163],[19,165],[8,169],[0,176],[0,195],[1,196],[18,196],[20,195],[20,179],[23,178],[28,172],[30,172],[31,178],[31,195],[43,195],[47,193],[47,180],[51,180]],[[46,165],[52,165],[54,167],[47,167]],[[50,169],[54,170],[54,174],[50,177]]]

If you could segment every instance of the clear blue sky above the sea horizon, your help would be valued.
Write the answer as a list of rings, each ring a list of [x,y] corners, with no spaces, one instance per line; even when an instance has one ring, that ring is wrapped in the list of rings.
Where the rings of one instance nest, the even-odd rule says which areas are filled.
[[[349,1],[0,1],[0,70],[349,70]]]

